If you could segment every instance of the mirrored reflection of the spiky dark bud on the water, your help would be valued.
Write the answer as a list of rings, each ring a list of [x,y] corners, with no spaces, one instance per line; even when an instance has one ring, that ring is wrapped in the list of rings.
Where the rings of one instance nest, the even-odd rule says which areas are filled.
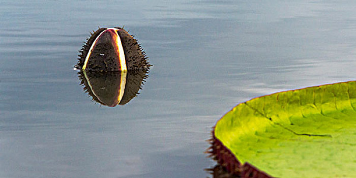
[[[114,107],[124,105],[136,97],[148,71],[94,72],[80,71],[78,77],[84,91],[94,101]]]

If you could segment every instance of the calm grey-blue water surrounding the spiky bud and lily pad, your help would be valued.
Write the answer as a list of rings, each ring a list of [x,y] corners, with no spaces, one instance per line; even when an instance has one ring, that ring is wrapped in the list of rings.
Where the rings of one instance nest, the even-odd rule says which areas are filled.
[[[0,177],[207,177],[211,127],[283,90],[355,79],[354,1],[0,1]],[[95,104],[78,50],[125,25],[153,68]]]

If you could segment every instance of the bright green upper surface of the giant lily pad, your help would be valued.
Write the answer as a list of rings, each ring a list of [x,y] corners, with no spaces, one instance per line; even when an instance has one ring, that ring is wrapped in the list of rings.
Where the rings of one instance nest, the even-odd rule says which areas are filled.
[[[217,123],[242,163],[275,177],[356,177],[356,82],[263,96]]]

